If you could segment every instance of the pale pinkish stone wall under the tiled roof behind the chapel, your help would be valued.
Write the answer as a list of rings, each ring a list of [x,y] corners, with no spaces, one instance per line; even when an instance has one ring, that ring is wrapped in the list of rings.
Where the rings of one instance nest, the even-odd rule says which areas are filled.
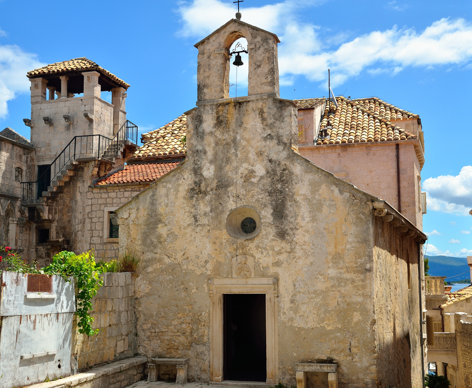
[[[401,213],[421,230],[423,218],[417,179],[421,168],[414,142],[419,143],[419,140],[398,142]],[[395,143],[311,145],[300,146],[298,151],[317,166],[386,200],[397,209]]]

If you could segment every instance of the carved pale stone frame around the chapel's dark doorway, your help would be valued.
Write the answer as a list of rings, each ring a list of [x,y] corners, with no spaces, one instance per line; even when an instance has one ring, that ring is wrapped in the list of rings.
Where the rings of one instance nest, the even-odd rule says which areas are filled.
[[[267,384],[278,382],[277,278],[210,279],[210,377],[223,376],[223,294],[266,295]]]

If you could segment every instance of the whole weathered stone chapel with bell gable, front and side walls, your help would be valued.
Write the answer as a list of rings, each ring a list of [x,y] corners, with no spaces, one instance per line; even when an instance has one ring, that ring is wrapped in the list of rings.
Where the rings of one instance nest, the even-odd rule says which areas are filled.
[[[248,96],[228,49],[248,42]],[[189,358],[189,379],[422,385],[420,229],[298,147],[279,98],[276,35],[230,20],[198,49],[187,156],[121,206],[120,252],[141,257],[139,352]],[[302,369],[303,370],[303,369]],[[300,380],[301,379],[301,380]],[[326,381],[327,382],[327,381]]]

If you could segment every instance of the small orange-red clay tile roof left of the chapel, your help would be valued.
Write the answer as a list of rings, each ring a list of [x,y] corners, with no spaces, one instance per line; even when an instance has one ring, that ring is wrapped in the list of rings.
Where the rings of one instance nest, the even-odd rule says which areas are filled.
[[[99,180],[95,186],[139,182],[152,183],[164,174],[175,169],[179,163],[179,161],[172,161],[164,163],[127,164],[125,169],[110,175],[110,177]]]

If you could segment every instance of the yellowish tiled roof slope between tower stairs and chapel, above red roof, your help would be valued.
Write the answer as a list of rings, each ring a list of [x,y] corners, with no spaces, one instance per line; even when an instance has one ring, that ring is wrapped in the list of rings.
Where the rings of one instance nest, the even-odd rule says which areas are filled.
[[[141,135],[145,142],[131,158],[182,154],[186,152],[185,143],[181,141],[187,135],[187,116],[185,114],[170,123]]]

